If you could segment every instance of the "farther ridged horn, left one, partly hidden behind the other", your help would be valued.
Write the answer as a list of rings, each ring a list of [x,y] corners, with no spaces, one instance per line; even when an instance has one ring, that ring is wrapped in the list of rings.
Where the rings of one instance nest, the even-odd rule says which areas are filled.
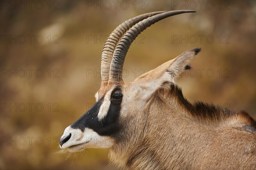
[[[134,24],[144,20],[145,18],[164,13],[166,11],[150,12],[147,14],[142,14],[137,17],[131,18],[124,23],[120,24],[114,31],[109,35],[108,40],[106,41],[103,50],[102,50],[102,61],[101,61],[101,77],[102,81],[108,81],[109,70],[111,65],[111,60],[113,57],[116,44],[122,35]]]

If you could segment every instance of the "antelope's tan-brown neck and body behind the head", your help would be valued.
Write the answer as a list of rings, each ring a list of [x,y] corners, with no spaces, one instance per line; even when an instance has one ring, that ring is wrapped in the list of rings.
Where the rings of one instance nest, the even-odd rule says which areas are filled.
[[[216,112],[209,105],[191,113],[184,102],[173,85],[158,90],[143,117],[127,122],[130,136],[111,148],[111,161],[122,168],[147,170],[256,169],[256,125],[247,113],[221,108]]]

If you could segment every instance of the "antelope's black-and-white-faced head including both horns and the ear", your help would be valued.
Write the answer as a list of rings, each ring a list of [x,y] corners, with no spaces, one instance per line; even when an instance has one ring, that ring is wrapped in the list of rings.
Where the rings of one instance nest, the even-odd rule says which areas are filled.
[[[187,65],[200,48],[184,52],[133,82],[122,80],[125,55],[131,43],[147,27],[166,17],[188,12],[194,11],[143,14],[125,21],[111,33],[102,51],[102,82],[95,95],[96,103],[64,130],[61,149],[78,152],[89,147],[114,149],[117,145],[136,144],[148,121],[145,115],[152,96],[166,83],[175,84],[175,79],[189,68]],[[123,148],[129,149],[128,145]]]

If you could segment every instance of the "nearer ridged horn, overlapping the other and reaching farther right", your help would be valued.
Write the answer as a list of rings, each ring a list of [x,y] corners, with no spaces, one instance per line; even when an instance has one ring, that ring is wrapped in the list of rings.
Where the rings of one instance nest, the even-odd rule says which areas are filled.
[[[119,41],[118,45],[116,46],[116,49],[113,54],[113,59],[111,62],[109,79],[111,81],[116,81],[116,82],[122,81],[122,68],[124,65],[127,51],[131,43],[142,31],[144,31],[146,28],[148,28],[152,24],[160,20],[163,20],[164,18],[177,15],[177,14],[188,13],[188,12],[195,12],[195,11],[189,11],[189,10],[167,11],[161,14],[154,15],[152,17],[148,17],[147,19],[140,21],[139,23],[135,24],[132,28],[130,28],[129,31],[125,33],[125,35],[122,37],[122,39]]]

